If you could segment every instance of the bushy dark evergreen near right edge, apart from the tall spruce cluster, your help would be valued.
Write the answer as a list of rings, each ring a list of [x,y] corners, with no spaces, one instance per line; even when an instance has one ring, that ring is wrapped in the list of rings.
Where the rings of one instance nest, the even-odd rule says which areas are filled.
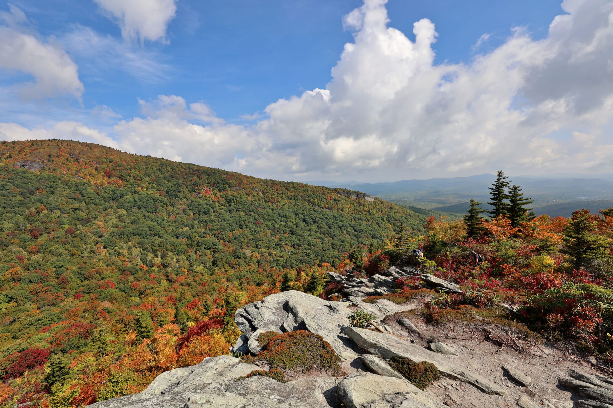
[[[609,256],[609,240],[595,234],[595,230],[596,221],[593,220],[590,210],[575,211],[573,217],[568,220],[568,226],[563,232],[565,248],[562,253],[569,256],[574,269],[579,270],[590,261]]]

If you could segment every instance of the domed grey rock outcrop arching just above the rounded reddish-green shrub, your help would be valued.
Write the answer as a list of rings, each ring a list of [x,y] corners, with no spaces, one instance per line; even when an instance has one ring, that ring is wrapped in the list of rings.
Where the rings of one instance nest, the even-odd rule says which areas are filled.
[[[348,306],[297,291],[270,295],[236,311],[234,319],[243,335],[233,351],[257,354],[261,349],[257,338],[268,330],[277,333],[308,330],[322,336],[341,358],[352,360],[357,353],[342,333],[349,322],[351,310]]]

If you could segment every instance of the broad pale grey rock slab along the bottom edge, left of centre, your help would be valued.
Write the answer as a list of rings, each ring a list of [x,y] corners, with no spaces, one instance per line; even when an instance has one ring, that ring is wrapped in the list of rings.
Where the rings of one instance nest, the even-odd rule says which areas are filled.
[[[327,408],[338,400],[340,378],[298,379],[281,384],[268,377],[236,381],[261,369],[238,358],[205,358],[195,366],[160,374],[145,391],[96,402],[92,408]]]

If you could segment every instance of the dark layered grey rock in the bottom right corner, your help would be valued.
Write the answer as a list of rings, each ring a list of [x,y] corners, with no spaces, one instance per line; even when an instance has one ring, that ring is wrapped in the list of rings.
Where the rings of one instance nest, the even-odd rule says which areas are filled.
[[[570,378],[561,378],[559,382],[585,398],[577,401],[577,407],[613,407],[613,379],[600,375],[588,376],[575,370],[569,371],[568,375]]]

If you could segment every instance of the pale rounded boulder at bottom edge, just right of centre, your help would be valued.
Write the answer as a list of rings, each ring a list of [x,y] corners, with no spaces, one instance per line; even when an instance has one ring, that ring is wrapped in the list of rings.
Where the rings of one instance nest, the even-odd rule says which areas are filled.
[[[426,391],[405,379],[382,377],[364,371],[345,377],[337,386],[343,406],[348,408],[446,408]]]

